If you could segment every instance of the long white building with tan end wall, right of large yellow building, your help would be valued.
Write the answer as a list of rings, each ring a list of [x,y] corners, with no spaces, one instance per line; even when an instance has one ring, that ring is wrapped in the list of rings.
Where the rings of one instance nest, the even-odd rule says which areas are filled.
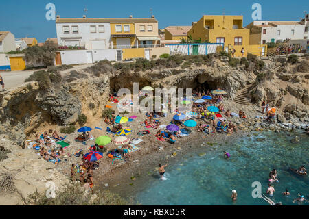
[[[301,21],[253,21],[246,28],[250,29],[250,44],[266,44],[304,39],[308,36],[305,27]]]

